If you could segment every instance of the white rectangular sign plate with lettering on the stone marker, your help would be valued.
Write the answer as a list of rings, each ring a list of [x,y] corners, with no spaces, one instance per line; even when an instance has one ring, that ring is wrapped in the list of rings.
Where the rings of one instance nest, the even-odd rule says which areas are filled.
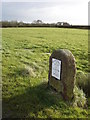
[[[61,61],[52,58],[52,76],[60,80]]]

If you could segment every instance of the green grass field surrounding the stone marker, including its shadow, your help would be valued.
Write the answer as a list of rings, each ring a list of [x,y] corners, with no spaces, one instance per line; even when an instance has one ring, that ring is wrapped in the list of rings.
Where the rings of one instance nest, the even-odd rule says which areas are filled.
[[[86,118],[87,109],[72,107],[48,88],[49,56],[69,49],[77,72],[88,70],[88,30],[4,28],[2,30],[3,117]]]

